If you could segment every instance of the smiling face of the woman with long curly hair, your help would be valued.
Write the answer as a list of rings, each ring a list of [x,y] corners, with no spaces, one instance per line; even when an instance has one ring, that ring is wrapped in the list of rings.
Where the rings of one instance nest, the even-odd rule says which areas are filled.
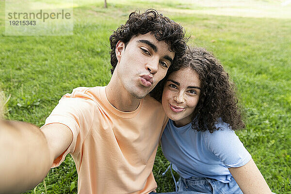
[[[200,96],[198,74],[186,67],[169,75],[162,93],[162,107],[177,127],[192,121],[192,113]]]

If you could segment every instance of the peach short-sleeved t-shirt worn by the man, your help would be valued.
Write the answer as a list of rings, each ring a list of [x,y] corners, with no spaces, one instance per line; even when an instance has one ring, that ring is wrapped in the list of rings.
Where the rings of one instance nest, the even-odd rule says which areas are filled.
[[[149,96],[135,111],[121,112],[108,101],[105,87],[74,89],[46,119],[45,125],[61,123],[73,133],[52,167],[71,154],[78,194],[148,194],[157,188],[152,168],[167,117]]]

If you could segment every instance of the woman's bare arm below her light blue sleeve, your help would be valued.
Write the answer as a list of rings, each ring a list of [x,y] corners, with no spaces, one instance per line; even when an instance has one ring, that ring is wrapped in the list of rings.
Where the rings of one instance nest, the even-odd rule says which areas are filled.
[[[253,159],[241,167],[228,169],[243,194],[272,194]]]

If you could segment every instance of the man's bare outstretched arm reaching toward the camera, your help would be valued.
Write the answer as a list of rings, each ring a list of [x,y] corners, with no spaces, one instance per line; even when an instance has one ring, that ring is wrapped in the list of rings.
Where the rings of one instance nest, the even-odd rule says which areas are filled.
[[[0,120],[0,194],[19,194],[45,178],[73,135],[65,125]]]

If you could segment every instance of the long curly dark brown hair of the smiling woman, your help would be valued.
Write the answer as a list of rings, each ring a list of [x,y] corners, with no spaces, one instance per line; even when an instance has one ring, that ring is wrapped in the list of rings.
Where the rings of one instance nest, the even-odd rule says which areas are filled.
[[[181,64],[169,68],[165,78],[150,95],[161,102],[167,77],[174,71],[191,67],[198,74],[201,87],[192,117],[192,128],[203,132],[209,130],[212,133],[220,129],[215,126],[219,118],[229,124],[232,130],[244,128],[235,85],[229,81],[229,76],[219,60],[204,48],[188,48],[182,60]]]

